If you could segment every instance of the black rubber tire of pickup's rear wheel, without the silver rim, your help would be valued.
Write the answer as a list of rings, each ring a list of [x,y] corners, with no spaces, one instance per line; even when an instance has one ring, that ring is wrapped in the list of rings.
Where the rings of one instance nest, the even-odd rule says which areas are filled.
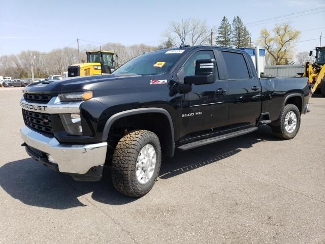
[[[294,112],[296,115],[296,119],[297,119],[297,124],[296,124],[296,128],[295,130],[293,130],[292,132],[288,132],[285,129],[285,117],[289,112]],[[287,104],[284,106],[281,114],[280,114],[280,124],[278,126],[272,126],[272,131],[275,137],[280,138],[280,139],[285,139],[285,140],[289,140],[289,139],[293,139],[300,128],[300,112],[299,109],[297,108],[296,105],[294,104]]]

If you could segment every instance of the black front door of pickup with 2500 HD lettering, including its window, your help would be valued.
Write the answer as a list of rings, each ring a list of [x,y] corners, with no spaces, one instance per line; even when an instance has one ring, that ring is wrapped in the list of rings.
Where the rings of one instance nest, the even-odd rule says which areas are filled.
[[[194,52],[178,72],[178,82],[183,83],[184,77],[195,74],[196,60],[211,59],[215,56],[212,50]],[[218,66],[218,64],[217,64]],[[227,124],[228,107],[225,103],[226,81],[219,80],[216,69],[216,81],[212,84],[194,85],[186,94],[176,95],[179,136],[183,137],[192,132],[211,130]]]

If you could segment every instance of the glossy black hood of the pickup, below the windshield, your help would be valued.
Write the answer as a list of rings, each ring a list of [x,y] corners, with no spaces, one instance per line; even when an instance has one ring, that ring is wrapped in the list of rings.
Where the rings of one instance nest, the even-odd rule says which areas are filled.
[[[46,93],[46,94],[58,94],[58,93],[71,93],[80,92],[82,90],[92,90],[94,88],[100,88],[105,83],[105,86],[114,85],[114,87],[124,86],[121,81],[141,79],[143,76],[137,74],[111,74],[111,75],[99,75],[99,76],[83,76],[83,77],[71,77],[62,80],[47,80],[42,82],[31,83],[24,88],[26,93]],[[122,87],[121,87],[122,88]]]

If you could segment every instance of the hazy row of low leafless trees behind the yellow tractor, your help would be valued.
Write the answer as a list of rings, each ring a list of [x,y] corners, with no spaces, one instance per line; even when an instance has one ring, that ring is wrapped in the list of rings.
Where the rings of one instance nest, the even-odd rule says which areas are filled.
[[[159,45],[148,46],[145,44],[124,46],[120,43],[107,43],[100,47],[100,45],[86,44],[81,46],[81,59],[86,59],[85,51],[100,50],[100,48],[101,50],[114,51],[118,55],[117,65],[120,66],[144,52],[154,51],[161,47]],[[62,53],[61,62],[57,53]],[[64,72],[68,71],[70,65],[77,64],[79,62],[78,50],[72,47],[64,47],[53,49],[48,53],[27,50],[17,55],[3,55],[0,56],[0,74],[14,78],[30,78],[31,60],[35,78],[45,78],[49,75],[60,74],[61,67]]]

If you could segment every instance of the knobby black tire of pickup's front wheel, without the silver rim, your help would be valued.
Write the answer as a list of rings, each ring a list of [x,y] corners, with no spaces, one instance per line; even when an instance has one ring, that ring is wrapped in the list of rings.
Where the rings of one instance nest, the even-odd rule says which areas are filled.
[[[156,154],[156,163],[152,177],[146,184],[137,179],[137,160],[145,145],[152,145]],[[112,181],[116,190],[127,196],[142,197],[153,187],[161,164],[159,139],[151,131],[137,130],[122,137],[117,143],[112,159]]]

